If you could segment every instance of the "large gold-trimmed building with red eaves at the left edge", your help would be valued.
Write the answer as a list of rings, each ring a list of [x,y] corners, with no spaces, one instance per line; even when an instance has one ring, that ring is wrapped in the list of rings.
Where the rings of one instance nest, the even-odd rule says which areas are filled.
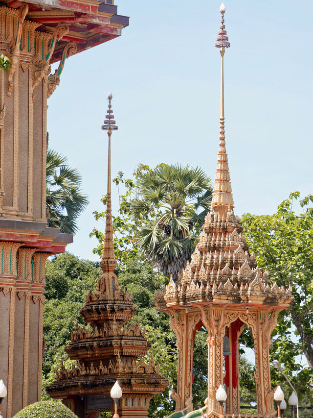
[[[46,223],[47,98],[66,58],[121,35],[113,0],[3,0],[0,52],[0,379],[2,415],[41,398],[45,260],[72,235]],[[50,64],[59,62],[55,72]],[[64,103],[62,103],[64,106]],[[66,138],[65,138],[66,140]]]

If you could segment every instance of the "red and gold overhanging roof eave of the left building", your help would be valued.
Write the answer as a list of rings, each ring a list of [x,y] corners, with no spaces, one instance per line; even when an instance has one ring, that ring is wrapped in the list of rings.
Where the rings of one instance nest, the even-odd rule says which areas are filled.
[[[122,28],[129,25],[127,16],[117,14],[116,5],[96,0],[26,0],[26,3],[29,6],[26,19],[42,24],[38,31],[52,33],[60,23],[69,26],[67,35],[58,42],[50,63],[61,59],[68,42],[76,43],[78,53],[117,38]],[[18,8],[22,1],[9,0],[4,4]]]

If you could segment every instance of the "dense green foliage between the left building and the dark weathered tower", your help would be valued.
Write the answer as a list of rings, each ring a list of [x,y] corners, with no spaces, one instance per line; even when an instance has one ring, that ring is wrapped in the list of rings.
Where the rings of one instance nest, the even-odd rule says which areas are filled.
[[[94,290],[102,271],[98,263],[80,260],[65,253],[46,262],[44,305],[45,376],[61,358],[67,359],[64,345],[70,341],[76,321],[83,324],[79,310],[89,289]],[[53,376],[51,377],[53,380]]]

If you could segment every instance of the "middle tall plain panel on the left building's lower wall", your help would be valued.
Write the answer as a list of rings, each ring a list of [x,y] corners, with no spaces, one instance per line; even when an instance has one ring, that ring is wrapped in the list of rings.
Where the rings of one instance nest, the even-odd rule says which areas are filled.
[[[22,409],[25,297],[15,297],[12,416]]]

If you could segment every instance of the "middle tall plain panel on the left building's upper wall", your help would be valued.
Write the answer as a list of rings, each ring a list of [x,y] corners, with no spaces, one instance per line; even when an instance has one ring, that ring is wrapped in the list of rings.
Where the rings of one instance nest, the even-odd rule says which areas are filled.
[[[23,88],[22,88],[23,87]],[[19,211],[28,211],[28,70],[20,69]]]

